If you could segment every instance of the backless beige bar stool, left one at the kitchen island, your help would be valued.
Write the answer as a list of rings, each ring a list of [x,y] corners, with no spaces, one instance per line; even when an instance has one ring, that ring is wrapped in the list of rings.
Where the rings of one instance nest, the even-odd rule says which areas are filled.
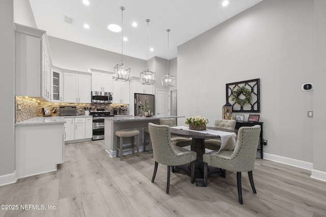
[[[124,147],[125,149],[127,149],[128,151],[130,151],[130,149],[132,150],[132,153],[134,153],[134,150],[137,149],[137,156],[139,156],[139,131],[135,130],[135,129],[129,129],[129,130],[120,130],[120,131],[116,131],[116,145],[117,145],[117,157],[119,156],[119,152],[120,152],[120,161],[122,161],[122,156],[123,156],[123,138],[128,138],[131,137],[132,140],[132,144],[131,146],[127,146]],[[137,142],[137,147],[134,147],[134,137],[136,137],[136,142]],[[118,138],[119,138],[119,143],[120,146],[118,148]]]

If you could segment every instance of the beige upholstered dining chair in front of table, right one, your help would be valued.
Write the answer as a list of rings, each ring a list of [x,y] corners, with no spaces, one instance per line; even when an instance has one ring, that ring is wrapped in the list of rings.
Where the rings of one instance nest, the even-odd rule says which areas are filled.
[[[203,154],[204,186],[207,187],[208,166],[235,171],[238,187],[239,203],[242,201],[241,172],[248,172],[253,193],[256,194],[253,169],[260,135],[260,126],[241,127],[238,132],[237,142],[233,151],[222,150],[219,153],[211,151]]]

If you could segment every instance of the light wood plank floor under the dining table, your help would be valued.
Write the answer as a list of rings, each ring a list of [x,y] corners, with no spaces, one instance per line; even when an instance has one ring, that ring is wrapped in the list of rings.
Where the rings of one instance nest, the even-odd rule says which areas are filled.
[[[187,175],[158,165],[154,183],[152,154],[120,161],[104,151],[104,140],[67,144],[58,171],[22,178],[0,187],[0,205],[48,205],[55,210],[2,210],[0,216],[326,216],[326,182],[310,171],[256,159],[257,195],[242,173],[243,205],[237,200],[236,174],[212,175],[196,187]]]

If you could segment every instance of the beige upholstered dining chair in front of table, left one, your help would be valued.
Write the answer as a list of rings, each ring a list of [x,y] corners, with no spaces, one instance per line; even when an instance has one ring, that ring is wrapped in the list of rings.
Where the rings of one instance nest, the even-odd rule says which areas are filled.
[[[172,145],[170,127],[148,123],[152,140],[153,156],[155,161],[152,182],[154,182],[158,163],[168,166],[167,194],[170,191],[171,167],[191,163],[191,182],[195,182],[195,160],[197,153],[182,147]]]

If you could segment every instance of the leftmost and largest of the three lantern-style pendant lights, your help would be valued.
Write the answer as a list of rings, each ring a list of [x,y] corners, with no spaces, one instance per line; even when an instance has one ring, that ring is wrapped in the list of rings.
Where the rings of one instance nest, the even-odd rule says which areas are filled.
[[[121,64],[117,64],[114,68],[114,73],[117,81],[127,81],[129,80],[130,75],[130,67],[125,66],[123,64],[123,10],[124,7],[120,7],[121,9]]]

